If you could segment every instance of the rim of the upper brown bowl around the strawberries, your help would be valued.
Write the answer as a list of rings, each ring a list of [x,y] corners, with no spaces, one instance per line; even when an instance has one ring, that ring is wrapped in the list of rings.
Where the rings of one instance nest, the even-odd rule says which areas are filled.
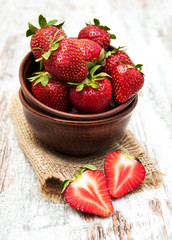
[[[118,114],[119,112],[123,111],[128,105],[131,104],[131,102],[136,98],[136,95],[133,95],[130,99],[128,99],[125,103],[122,103],[120,105],[118,105],[117,107],[107,110],[105,112],[101,112],[101,113],[93,113],[93,114],[77,114],[77,113],[68,113],[68,112],[63,112],[57,109],[53,109],[47,105],[45,105],[44,103],[40,102],[38,99],[36,99],[31,92],[28,90],[28,88],[25,85],[24,79],[23,79],[23,71],[24,71],[24,67],[26,65],[26,62],[29,58],[33,57],[32,52],[28,52],[26,54],[26,56],[23,58],[20,67],[19,67],[19,81],[20,81],[20,85],[21,88],[24,92],[24,94],[27,95],[27,97],[29,98],[29,100],[33,103],[35,103],[35,105],[39,106],[39,108],[41,110],[43,110],[44,112],[48,112],[49,114],[53,115],[53,116],[58,116],[58,117],[62,117],[62,118],[66,118],[66,119],[73,119],[73,120],[95,120],[95,119],[102,119],[105,117],[109,117],[112,116],[114,114]]]

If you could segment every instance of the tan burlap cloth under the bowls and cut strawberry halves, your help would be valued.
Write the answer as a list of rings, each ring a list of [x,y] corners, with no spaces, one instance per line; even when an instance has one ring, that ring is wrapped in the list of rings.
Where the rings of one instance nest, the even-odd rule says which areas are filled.
[[[123,150],[135,155],[144,165],[146,177],[137,191],[157,187],[162,182],[161,172],[128,129],[124,131],[118,142],[114,142],[114,147],[106,151],[85,157],[67,156],[51,149],[35,137],[23,114],[18,94],[15,94],[11,100],[9,115],[13,119],[18,142],[36,173],[40,191],[46,200],[57,202],[62,199],[60,183],[70,178],[80,166],[92,164],[103,171],[105,157],[113,150]]]

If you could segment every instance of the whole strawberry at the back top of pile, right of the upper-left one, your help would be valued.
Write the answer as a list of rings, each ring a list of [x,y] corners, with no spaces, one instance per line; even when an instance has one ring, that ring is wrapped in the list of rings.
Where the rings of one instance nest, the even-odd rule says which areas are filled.
[[[110,45],[110,39],[116,39],[116,36],[114,34],[108,33],[110,28],[100,25],[100,21],[98,19],[94,18],[93,21],[94,24],[86,24],[87,26],[79,32],[78,38],[90,39],[107,50]]]

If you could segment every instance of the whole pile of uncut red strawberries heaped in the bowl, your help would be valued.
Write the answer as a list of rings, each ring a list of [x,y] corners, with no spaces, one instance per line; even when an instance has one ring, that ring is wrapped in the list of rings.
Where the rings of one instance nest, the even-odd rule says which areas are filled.
[[[26,36],[40,70],[31,76],[32,94],[57,110],[100,113],[127,101],[144,84],[142,65],[121,47],[110,46],[107,26],[94,19],[78,34],[68,38],[63,23],[49,22],[40,15],[36,28],[29,23]]]

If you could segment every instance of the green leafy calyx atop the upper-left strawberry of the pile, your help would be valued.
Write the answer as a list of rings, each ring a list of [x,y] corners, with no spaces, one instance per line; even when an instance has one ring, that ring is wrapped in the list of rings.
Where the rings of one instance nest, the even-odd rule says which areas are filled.
[[[47,22],[46,18],[41,14],[38,17],[38,23],[40,28],[48,27],[48,26],[55,26],[57,28],[62,28],[64,22],[56,24],[58,22],[57,19],[53,19]],[[56,24],[56,25],[55,25]],[[26,31],[26,37],[32,36],[36,33],[38,30],[37,27],[32,25],[30,22],[28,22],[28,30]]]

